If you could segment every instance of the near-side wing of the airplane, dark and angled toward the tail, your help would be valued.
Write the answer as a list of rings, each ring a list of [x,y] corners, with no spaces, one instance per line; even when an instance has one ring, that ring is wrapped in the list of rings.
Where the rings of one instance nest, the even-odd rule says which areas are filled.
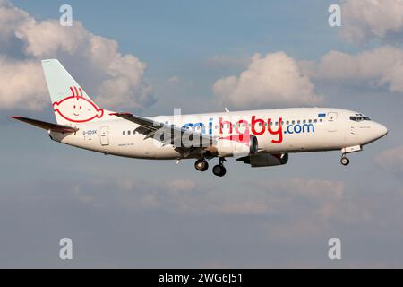
[[[204,135],[192,129],[167,125],[147,117],[139,117],[129,113],[113,113],[111,115],[122,117],[140,125],[135,131],[145,135],[144,139],[152,137],[163,145],[172,144],[182,154],[190,154],[191,152],[203,153],[206,148],[217,142],[211,135]]]

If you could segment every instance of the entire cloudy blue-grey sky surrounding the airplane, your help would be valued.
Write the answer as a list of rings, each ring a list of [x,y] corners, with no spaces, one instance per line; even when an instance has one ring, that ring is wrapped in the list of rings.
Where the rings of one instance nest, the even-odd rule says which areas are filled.
[[[0,0],[0,267],[403,267],[402,36],[399,0]],[[389,135],[347,168],[340,152],[259,169],[228,159],[225,178],[104,156],[10,119],[55,121],[45,58],[106,109],[334,107]],[[73,260],[60,260],[62,238]]]

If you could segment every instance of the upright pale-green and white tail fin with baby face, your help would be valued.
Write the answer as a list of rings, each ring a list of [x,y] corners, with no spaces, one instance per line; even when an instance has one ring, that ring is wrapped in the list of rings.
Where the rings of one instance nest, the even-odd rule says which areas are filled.
[[[57,124],[86,123],[104,117],[106,111],[90,99],[58,60],[44,60],[42,67]]]

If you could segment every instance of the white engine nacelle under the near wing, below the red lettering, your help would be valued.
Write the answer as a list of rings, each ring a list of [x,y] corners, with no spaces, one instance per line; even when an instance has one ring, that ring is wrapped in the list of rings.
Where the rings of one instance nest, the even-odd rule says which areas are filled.
[[[254,135],[249,135],[249,141],[239,140],[232,137],[221,138],[210,148],[210,152],[219,157],[248,156],[259,151],[258,140]]]

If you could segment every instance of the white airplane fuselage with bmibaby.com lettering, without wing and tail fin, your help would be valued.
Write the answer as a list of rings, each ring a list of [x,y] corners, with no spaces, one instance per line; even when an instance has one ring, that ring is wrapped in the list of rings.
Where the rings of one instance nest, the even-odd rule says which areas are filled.
[[[372,143],[386,135],[386,127],[379,123],[350,119],[356,115],[361,114],[346,109],[296,108],[149,118],[168,125],[186,125],[196,132],[213,136],[231,135],[248,129],[251,135],[257,137],[260,152],[276,153],[342,150]],[[232,133],[227,121],[231,122]],[[57,142],[94,152],[143,159],[183,157],[172,145],[163,146],[152,137],[144,139],[144,135],[134,132],[139,125],[120,117],[107,117],[106,120],[75,126],[79,131],[74,134],[49,134]]]

